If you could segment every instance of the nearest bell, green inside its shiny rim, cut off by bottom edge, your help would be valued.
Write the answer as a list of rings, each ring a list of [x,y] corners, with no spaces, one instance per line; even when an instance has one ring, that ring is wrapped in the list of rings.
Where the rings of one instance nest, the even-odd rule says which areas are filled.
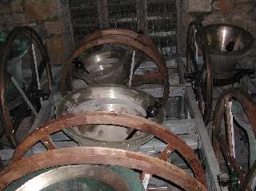
[[[131,169],[106,165],[64,165],[30,173],[9,185],[11,190],[124,190],[128,179],[119,173],[133,174]],[[127,179],[127,180],[126,180]],[[7,186],[6,190],[9,190]]]

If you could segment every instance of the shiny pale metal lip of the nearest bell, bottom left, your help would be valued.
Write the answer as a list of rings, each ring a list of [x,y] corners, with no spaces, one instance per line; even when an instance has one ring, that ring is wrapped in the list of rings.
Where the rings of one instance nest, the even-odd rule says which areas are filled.
[[[76,178],[90,178],[93,180],[101,181],[110,185],[114,190],[131,191],[128,188],[126,181],[118,176],[113,170],[100,165],[65,165],[57,169],[51,169],[46,173],[41,173],[38,176],[26,181],[16,191],[26,190],[76,190],[78,188],[65,187],[63,188],[64,181],[74,180]],[[68,186],[68,185],[66,185]],[[80,188],[82,189],[82,188]],[[79,189],[79,190],[80,190]],[[8,190],[8,188],[7,188]],[[87,189],[82,189],[87,190]]]

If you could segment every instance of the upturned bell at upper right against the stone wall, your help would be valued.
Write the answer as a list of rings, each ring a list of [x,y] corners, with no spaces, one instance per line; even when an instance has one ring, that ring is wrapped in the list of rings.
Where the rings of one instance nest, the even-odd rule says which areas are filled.
[[[210,59],[214,78],[230,78],[242,54],[254,43],[254,37],[245,29],[229,24],[205,26],[210,45]]]

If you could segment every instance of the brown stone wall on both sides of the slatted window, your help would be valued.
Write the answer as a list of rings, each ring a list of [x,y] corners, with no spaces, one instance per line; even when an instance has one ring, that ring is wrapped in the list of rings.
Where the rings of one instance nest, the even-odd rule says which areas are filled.
[[[0,0],[0,30],[28,25],[44,38],[53,64],[62,64],[74,50],[67,0]],[[230,23],[256,37],[255,0],[182,0],[180,52],[186,49],[186,30],[193,19],[203,25]]]

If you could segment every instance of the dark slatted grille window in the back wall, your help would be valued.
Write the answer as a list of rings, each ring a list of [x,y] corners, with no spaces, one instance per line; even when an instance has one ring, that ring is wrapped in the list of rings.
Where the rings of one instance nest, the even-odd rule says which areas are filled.
[[[178,50],[178,0],[69,0],[78,44],[101,28],[143,30],[165,55]]]

